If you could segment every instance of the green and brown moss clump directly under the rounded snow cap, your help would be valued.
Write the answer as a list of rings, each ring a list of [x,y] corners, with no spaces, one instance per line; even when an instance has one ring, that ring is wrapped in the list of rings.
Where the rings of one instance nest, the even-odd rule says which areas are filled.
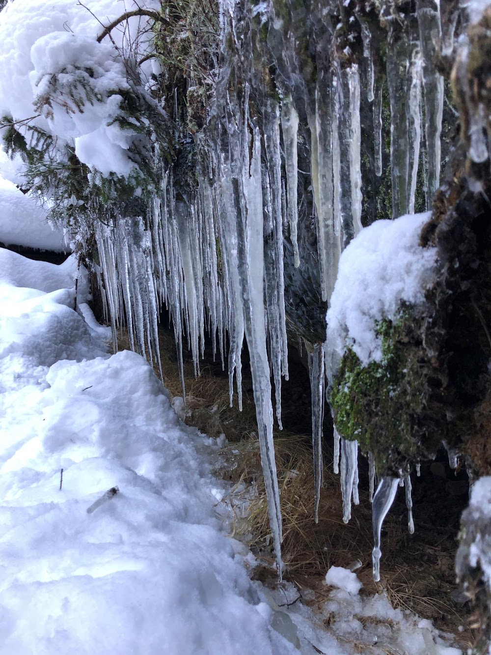
[[[409,307],[393,321],[380,321],[376,331],[381,362],[363,366],[353,350],[347,350],[330,401],[340,435],[371,451],[379,474],[384,474],[424,455],[417,428],[429,395],[429,368]]]

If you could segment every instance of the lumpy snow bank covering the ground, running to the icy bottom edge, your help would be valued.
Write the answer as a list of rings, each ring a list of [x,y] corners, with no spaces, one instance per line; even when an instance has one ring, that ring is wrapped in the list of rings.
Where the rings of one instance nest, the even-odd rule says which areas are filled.
[[[77,274],[0,250],[1,655],[460,652],[344,569],[316,616],[251,582],[217,443],[140,356],[107,354]]]

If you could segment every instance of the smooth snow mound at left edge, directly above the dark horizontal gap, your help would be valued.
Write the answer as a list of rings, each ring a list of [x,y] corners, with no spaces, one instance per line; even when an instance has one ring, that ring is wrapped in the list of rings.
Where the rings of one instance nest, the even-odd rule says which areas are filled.
[[[3,170],[1,163],[0,166]],[[43,208],[3,178],[0,178],[0,242],[6,246],[65,250],[63,232],[52,229]]]

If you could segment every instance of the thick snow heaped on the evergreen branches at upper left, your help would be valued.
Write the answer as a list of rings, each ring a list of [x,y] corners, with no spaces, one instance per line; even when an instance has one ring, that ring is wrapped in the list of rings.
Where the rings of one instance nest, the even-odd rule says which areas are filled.
[[[0,14],[0,117],[45,130],[59,147],[73,143],[81,162],[104,176],[128,176],[135,165],[128,148],[137,132],[114,122],[122,113],[120,94],[130,88],[119,54],[147,19],[130,18],[124,31],[114,30],[116,47],[109,37],[101,43],[96,37],[103,25],[136,8],[112,0],[86,7],[67,0],[9,3]]]

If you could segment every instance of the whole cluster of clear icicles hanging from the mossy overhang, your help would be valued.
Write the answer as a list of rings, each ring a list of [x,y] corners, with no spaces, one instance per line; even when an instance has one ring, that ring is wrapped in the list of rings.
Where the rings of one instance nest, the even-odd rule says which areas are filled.
[[[346,4],[346,3],[345,3]],[[223,0],[221,22],[225,35],[234,34],[233,3]],[[272,3],[262,3],[265,14]],[[405,34],[388,27],[386,84],[391,105],[391,176],[393,215],[414,212],[416,175],[420,162],[422,116],[426,117],[427,198],[439,185],[440,132],[443,111],[443,79],[435,70],[435,41],[449,45],[452,34],[443,35],[438,3],[416,2],[419,34]],[[311,134],[311,179],[316,210],[321,294],[329,301],[342,249],[361,229],[361,128],[360,102],[373,111],[376,175],[382,174],[382,88],[374,76],[372,39],[361,18],[363,60],[346,67],[340,62],[319,73],[314,106],[308,116]],[[395,22],[395,21],[394,21]],[[397,28],[397,30],[396,30]],[[394,34],[392,34],[392,30]],[[396,34],[397,32],[397,34]],[[288,47],[285,41],[285,47]],[[244,50],[246,45],[243,46]],[[242,53],[242,72],[251,52]],[[245,62],[245,63],[244,63]],[[228,71],[228,72],[227,72]],[[360,75],[360,71],[362,75]],[[401,74],[406,71],[406,77]],[[177,195],[172,172],[162,174],[162,189],[155,195],[153,216],[143,221],[117,221],[113,229],[101,225],[97,234],[100,274],[106,291],[107,314],[118,327],[126,315],[132,347],[152,360],[159,357],[158,309],[170,309],[179,354],[185,396],[182,339],[187,335],[198,374],[204,335],[216,337],[218,355],[228,366],[230,403],[236,394],[242,406],[241,352],[244,337],[251,358],[254,400],[261,445],[268,512],[274,549],[281,574],[282,515],[273,446],[274,413],[281,428],[281,381],[288,379],[287,333],[283,281],[283,234],[289,233],[300,263],[297,244],[299,219],[297,131],[299,113],[287,92],[278,101],[267,100],[261,124],[249,115],[249,89],[244,83],[238,98],[225,79],[217,83],[217,115],[214,147],[202,162],[198,193]],[[361,88],[360,77],[366,88]],[[228,90],[227,90],[228,89]],[[363,91],[363,94],[362,94]],[[405,94],[409,113],[401,111]],[[221,98],[221,96],[223,96]],[[133,341],[134,340],[134,341]],[[215,347],[215,338],[212,340]],[[228,352],[225,352],[228,343]],[[322,484],[322,423],[325,398],[324,348],[309,349],[312,388],[312,440],[317,521]],[[215,354],[215,353],[213,353]],[[160,362],[157,362],[160,364]],[[271,396],[271,373],[276,407]],[[235,380],[235,382],[234,382]],[[335,432],[335,471],[341,457],[340,479],[344,521],[351,515],[351,498],[357,493],[358,445],[340,439]],[[400,478],[383,477],[374,491],[375,469],[370,457],[370,496],[373,500],[373,572],[380,576],[382,522],[403,484],[412,522],[409,472]]]

